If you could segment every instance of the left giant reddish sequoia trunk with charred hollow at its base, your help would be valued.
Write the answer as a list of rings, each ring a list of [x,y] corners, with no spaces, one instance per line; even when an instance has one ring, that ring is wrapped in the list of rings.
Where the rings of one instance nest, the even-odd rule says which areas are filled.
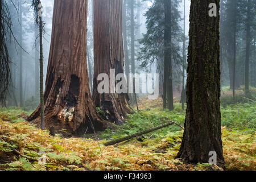
[[[87,1],[56,0],[44,93],[45,125],[75,135],[107,126],[97,114],[86,64]],[[40,125],[40,107],[28,118]]]

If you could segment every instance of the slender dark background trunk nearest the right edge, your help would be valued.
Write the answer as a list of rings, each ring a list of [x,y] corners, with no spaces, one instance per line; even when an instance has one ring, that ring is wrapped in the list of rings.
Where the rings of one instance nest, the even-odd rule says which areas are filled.
[[[249,64],[250,64],[250,43],[251,43],[251,0],[247,5],[247,22],[246,22],[246,56],[245,56],[245,93],[249,94]]]

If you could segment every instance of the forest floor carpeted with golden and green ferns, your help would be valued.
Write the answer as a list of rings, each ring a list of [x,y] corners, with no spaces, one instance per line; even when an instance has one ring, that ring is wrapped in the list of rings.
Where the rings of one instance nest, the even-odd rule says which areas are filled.
[[[256,102],[243,99],[229,104],[229,98],[222,98],[222,102],[224,168],[183,164],[175,159],[183,130],[174,125],[145,135],[143,142],[135,138],[105,147],[103,143],[108,140],[166,120],[184,124],[185,111],[177,99],[175,109],[167,111],[162,109],[160,99],[143,97],[139,98],[139,109],[143,111],[129,115],[125,125],[81,138],[62,138],[59,134],[52,137],[49,131],[25,122],[32,111],[0,108],[0,170],[256,170]],[[44,165],[38,163],[39,151],[46,152]]]

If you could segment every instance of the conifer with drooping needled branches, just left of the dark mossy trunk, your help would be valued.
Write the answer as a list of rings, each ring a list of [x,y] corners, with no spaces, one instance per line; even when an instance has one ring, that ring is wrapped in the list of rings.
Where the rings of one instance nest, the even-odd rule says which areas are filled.
[[[183,42],[183,32],[179,24],[180,2],[154,1],[146,13],[147,33],[140,40],[143,46],[138,57],[142,68],[148,68],[153,63],[158,64],[159,72],[163,73],[164,77],[159,84],[163,93],[163,108],[168,107],[170,110],[174,108],[172,97],[174,68],[183,65],[183,61],[180,61],[182,56],[179,46],[180,42]]]

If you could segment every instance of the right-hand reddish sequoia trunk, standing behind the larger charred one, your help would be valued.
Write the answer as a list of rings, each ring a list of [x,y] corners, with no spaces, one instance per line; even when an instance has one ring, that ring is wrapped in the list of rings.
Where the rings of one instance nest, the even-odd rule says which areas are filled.
[[[93,100],[109,121],[121,124],[131,113],[127,94],[98,93],[98,75],[110,69],[123,73],[122,2],[94,0],[94,80]],[[110,84],[109,84],[110,85]],[[110,89],[109,89],[110,90]]]

